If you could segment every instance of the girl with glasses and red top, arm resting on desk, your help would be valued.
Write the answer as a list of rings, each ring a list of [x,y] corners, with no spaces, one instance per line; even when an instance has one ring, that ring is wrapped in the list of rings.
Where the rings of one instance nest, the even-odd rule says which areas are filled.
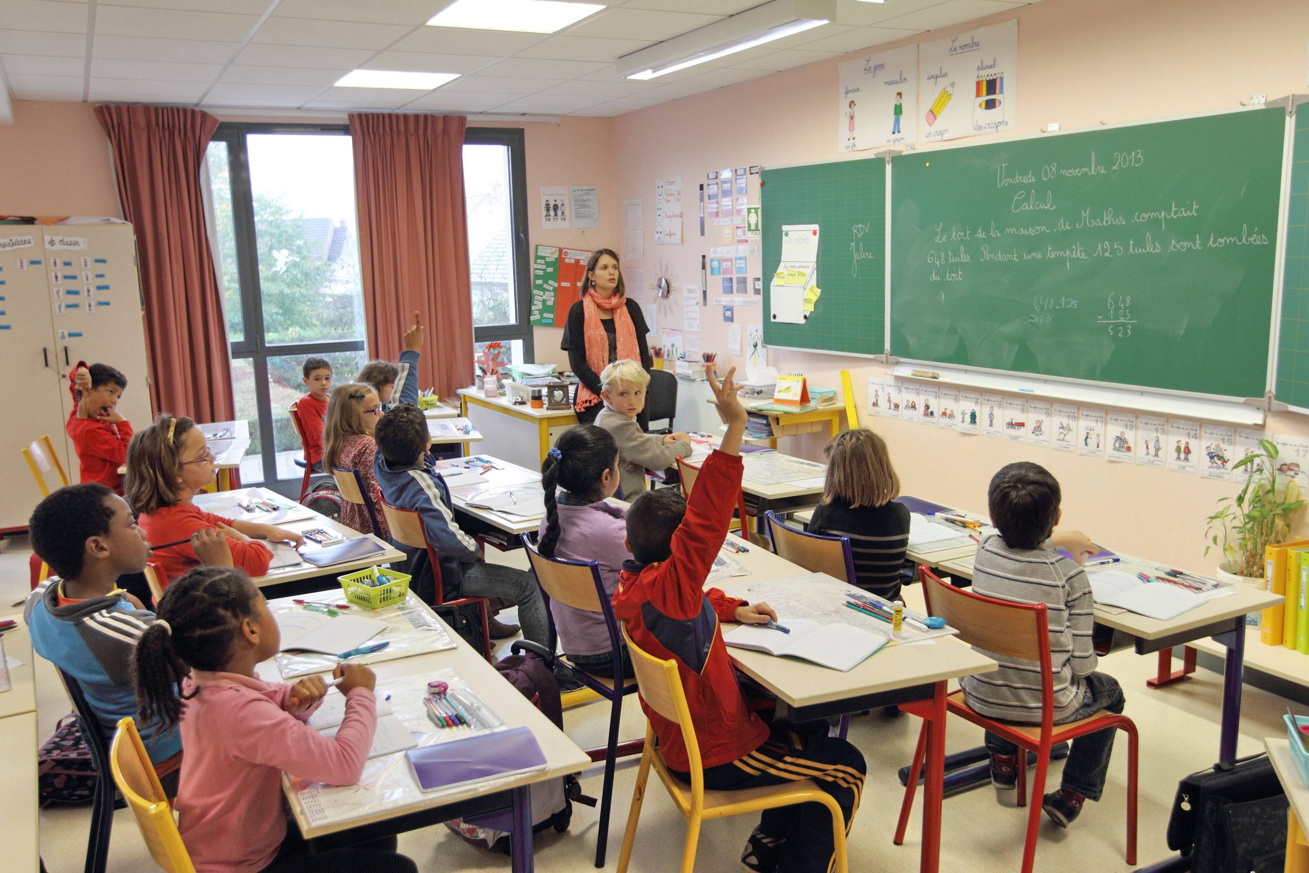
[[[137,522],[152,543],[190,539],[204,529],[216,529],[228,539],[232,563],[251,576],[268,572],[272,550],[260,539],[289,541],[297,547],[305,538],[292,530],[249,521],[233,521],[203,512],[191,503],[213,482],[213,453],[204,432],[187,418],[165,412],[154,424],[136,435],[127,452],[127,503],[139,513]],[[200,565],[190,542],[158,548],[153,555],[169,580]]]

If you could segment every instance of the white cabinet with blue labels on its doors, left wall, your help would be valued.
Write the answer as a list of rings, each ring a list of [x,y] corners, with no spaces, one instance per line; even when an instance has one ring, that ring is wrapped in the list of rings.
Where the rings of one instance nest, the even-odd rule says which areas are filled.
[[[41,499],[21,450],[48,435],[71,482],[64,433],[68,373],[79,360],[127,377],[118,411],[151,423],[136,236],[127,224],[0,225],[0,533],[26,527]]]

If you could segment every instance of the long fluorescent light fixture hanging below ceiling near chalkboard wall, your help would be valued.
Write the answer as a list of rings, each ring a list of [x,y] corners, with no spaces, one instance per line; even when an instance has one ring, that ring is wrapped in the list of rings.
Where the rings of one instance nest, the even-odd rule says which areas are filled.
[[[835,0],[772,0],[618,59],[623,79],[654,79],[830,22]]]

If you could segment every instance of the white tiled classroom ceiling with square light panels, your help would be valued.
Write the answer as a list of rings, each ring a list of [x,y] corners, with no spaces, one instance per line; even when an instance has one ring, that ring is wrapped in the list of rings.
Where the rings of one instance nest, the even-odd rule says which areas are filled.
[[[838,0],[833,24],[651,81],[619,79],[614,60],[763,0],[589,0],[605,8],[554,34],[425,26],[452,1],[0,0],[0,84],[16,99],[225,113],[611,116],[1033,0]],[[334,86],[356,68],[459,77],[428,92]]]

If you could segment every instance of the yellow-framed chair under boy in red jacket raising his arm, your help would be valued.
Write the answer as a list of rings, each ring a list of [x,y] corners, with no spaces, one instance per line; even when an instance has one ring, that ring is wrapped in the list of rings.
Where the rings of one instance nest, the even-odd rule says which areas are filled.
[[[641,801],[645,797],[645,783],[653,768],[658,775],[664,788],[668,789],[677,811],[686,819],[686,843],[682,847],[682,873],[691,873],[695,869],[695,849],[700,840],[700,825],[713,818],[728,815],[744,815],[758,813],[764,809],[779,806],[792,806],[795,804],[822,804],[831,815],[833,846],[836,855],[836,873],[848,873],[846,860],[846,819],[842,815],[836,800],[827,792],[818,788],[812,779],[802,779],[781,785],[768,785],[766,788],[747,788],[745,791],[708,791],[704,788],[704,767],[700,763],[700,742],[695,736],[695,724],[691,721],[691,711],[686,704],[686,694],[682,690],[682,677],[677,671],[677,661],[656,658],[640,649],[632,637],[623,628],[623,639],[627,641],[627,652],[632,658],[632,669],[636,671],[636,683],[640,687],[641,700],[654,712],[669,721],[673,721],[682,730],[682,741],[686,743],[686,754],[690,760],[691,784],[681,781],[664,762],[664,755],[657,749],[654,729],[645,726],[645,750],[641,753],[641,766],[636,774],[636,788],[632,791],[632,810],[627,815],[627,832],[623,835],[623,851],[618,856],[618,873],[626,873],[627,863],[632,857],[632,843],[636,839],[636,825],[641,815]]]

